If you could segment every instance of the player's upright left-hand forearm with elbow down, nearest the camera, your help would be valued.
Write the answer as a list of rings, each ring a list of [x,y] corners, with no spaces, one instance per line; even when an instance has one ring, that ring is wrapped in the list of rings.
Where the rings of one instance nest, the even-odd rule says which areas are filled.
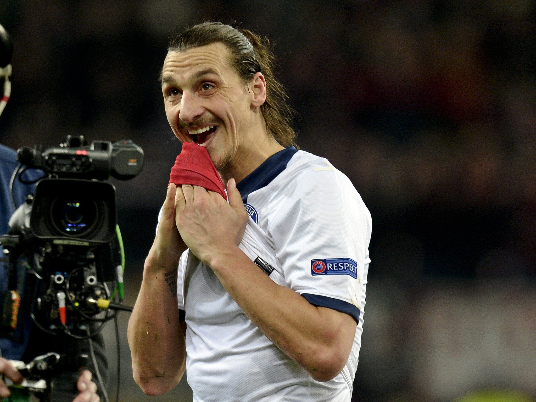
[[[172,389],[185,370],[186,349],[178,319],[176,267],[175,264],[172,269],[157,269],[151,258],[147,258],[142,286],[129,321],[133,376],[147,394]]]

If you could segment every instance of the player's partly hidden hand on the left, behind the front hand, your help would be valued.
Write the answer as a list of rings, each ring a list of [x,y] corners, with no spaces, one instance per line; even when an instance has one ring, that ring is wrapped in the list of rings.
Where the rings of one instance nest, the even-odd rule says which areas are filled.
[[[162,206],[162,215],[158,224],[157,236],[147,256],[152,269],[165,270],[176,268],[186,245],[175,226],[175,193],[177,187],[168,186],[166,200]]]

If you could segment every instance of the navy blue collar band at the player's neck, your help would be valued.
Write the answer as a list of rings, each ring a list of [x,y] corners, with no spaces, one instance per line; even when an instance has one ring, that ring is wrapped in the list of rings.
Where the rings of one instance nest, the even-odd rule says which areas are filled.
[[[287,163],[297,152],[294,146],[289,146],[284,150],[274,153],[266,159],[257,169],[251,172],[244,180],[236,184],[236,188],[242,195],[242,200],[248,202],[250,192],[262,189],[270,184],[283,170],[287,168]]]

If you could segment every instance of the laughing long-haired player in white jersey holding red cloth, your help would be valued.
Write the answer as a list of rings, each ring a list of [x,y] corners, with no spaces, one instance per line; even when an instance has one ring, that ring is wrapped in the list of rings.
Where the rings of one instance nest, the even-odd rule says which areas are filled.
[[[292,146],[274,62],[267,41],[219,23],[168,48],[168,122],[206,148],[229,203],[168,187],[128,330],[147,394],[187,368],[199,402],[351,399],[370,214],[346,176]]]

